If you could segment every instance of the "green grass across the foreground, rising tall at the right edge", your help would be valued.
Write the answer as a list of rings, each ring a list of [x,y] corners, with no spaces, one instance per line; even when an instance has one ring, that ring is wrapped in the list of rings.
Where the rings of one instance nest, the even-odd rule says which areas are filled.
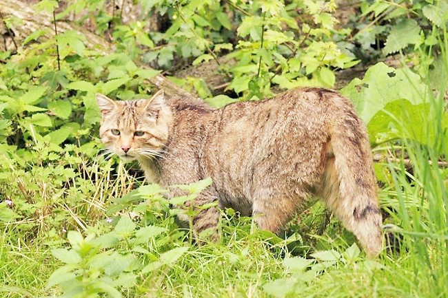
[[[445,32],[439,44],[445,69],[448,69],[446,35]],[[53,217],[48,216],[46,221],[39,222],[39,215],[43,215],[39,210],[50,208],[49,202],[48,206],[39,206],[41,209],[35,213],[27,213],[32,214],[28,219],[34,229],[21,228],[27,225],[25,220],[13,224],[0,222],[0,297],[61,295],[63,286],[46,288],[50,275],[62,268],[64,262],[69,262],[68,257],[54,257],[54,248],[74,248],[80,254],[85,253],[83,262],[90,260],[90,263],[77,264],[77,268],[85,269],[82,275],[85,285],[105,277],[114,266],[119,267],[113,262],[112,265],[101,264],[108,254],[118,252],[134,257],[139,265],[123,269],[124,277],[134,276],[116,286],[123,297],[448,297],[448,168],[445,164],[448,139],[446,124],[442,122],[446,114],[442,97],[445,89],[443,86],[439,89],[438,97],[427,98],[430,109],[425,111],[425,118],[428,121],[421,123],[422,131],[427,134],[425,139],[430,140],[427,144],[411,141],[413,138],[409,137],[414,132],[406,129],[407,123],[403,123],[405,129],[401,131],[405,133],[401,140],[393,146],[378,147],[378,151],[386,149],[395,155],[378,167],[383,170],[382,178],[385,179],[380,198],[383,207],[389,211],[385,222],[389,225],[387,232],[393,231],[403,237],[398,254],[384,252],[378,259],[368,260],[363,252],[358,253],[352,246],[353,235],[334,218],[323,231],[325,210],[321,203],[290,224],[292,231],[286,240],[258,231],[250,219],[225,215],[221,244],[190,246],[185,237],[187,233],[176,229],[173,217],[167,214],[164,206],[159,206],[163,203],[158,202],[154,206],[141,207],[143,215],[135,221],[135,231],[148,225],[166,231],[139,247],[132,244],[134,228],[130,228],[130,235],[101,250],[83,248],[84,242],[69,245],[63,232],[64,224],[69,230],[79,229],[85,237],[97,238],[110,233],[113,224],[108,224],[105,219],[114,216],[106,215],[103,209],[116,204],[111,203],[112,197],[118,198],[131,189],[130,184],[138,183],[121,164],[114,169],[110,167],[111,162],[107,170],[104,167],[101,170],[95,164],[92,167],[95,174],[79,180],[82,183],[71,180],[74,189],[87,185],[84,182],[91,189],[91,193],[85,195],[90,200],[77,200],[77,195],[72,196],[72,205],[76,208],[70,210],[74,212],[68,212],[67,207],[63,209],[66,213],[58,211],[59,220],[51,222]],[[89,168],[83,165],[80,172],[87,171]],[[121,179],[115,179],[116,175]],[[10,195],[13,196],[14,191]],[[39,189],[34,195],[39,195]],[[143,199],[127,203],[123,214],[149,200]],[[151,200],[156,202],[155,197]],[[24,203],[22,206],[28,208]],[[101,208],[95,209],[95,206]],[[120,216],[114,217],[114,224]],[[86,217],[89,220],[82,221],[87,226],[84,231],[78,223],[80,218]],[[54,226],[59,230],[56,231]],[[294,231],[300,233],[294,234]],[[85,243],[89,241],[85,240]],[[182,247],[189,249],[178,259],[143,272],[148,264],[161,262],[164,254]],[[332,250],[342,257],[334,257],[336,253]],[[325,251],[327,255],[316,253],[319,251]],[[307,262],[304,259],[310,263],[299,266],[301,262]],[[93,289],[90,296],[83,298],[108,297],[100,292]]]

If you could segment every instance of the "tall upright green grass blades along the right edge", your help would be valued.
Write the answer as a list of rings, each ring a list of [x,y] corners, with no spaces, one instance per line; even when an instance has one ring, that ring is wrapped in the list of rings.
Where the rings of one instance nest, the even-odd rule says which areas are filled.
[[[440,35],[440,60],[447,71],[447,30],[442,30]],[[407,286],[411,287],[409,293],[414,292],[420,297],[448,297],[448,118],[445,84],[437,93],[438,96],[427,98],[427,122],[422,123],[427,143],[412,141],[418,138],[414,138],[412,125],[409,126],[412,119],[409,119],[408,125],[403,123],[408,129],[402,144],[405,150],[400,151],[401,162],[398,166],[389,164],[399,206],[396,209],[396,219],[401,226],[399,233],[409,250],[409,257],[403,264],[414,270],[413,280]],[[404,154],[410,163],[405,164]]]

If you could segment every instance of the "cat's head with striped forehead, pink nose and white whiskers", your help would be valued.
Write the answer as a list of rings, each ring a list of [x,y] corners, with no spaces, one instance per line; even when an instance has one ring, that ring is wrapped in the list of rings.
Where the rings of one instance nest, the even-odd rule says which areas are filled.
[[[109,153],[129,162],[159,156],[172,123],[172,111],[163,91],[152,98],[112,100],[96,94],[101,110],[99,135]]]

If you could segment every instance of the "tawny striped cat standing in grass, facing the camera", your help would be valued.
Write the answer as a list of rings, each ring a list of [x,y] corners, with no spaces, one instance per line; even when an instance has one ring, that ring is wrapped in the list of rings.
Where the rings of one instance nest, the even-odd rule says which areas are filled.
[[[162,90],[137,100],[96,94],[96,101],[106,149],[138,160],[148,181],[167,187],[211,177],[196,206],[218,201],[274,233],[320,196],[369,257],[381,251],[367,129],[337,92],[301,87],[221,109],[198,98],[164,98]],[[218,220],[216,207],[202,210],[195,235],[216,229]]]

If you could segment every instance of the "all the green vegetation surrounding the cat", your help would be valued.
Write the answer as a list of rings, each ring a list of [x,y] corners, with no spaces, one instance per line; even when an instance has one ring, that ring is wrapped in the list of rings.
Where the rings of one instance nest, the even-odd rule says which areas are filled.
[[[347,1],[358,13],[343,26],[345,1],[138,0],[129,22],[117,2],[33,6],[56,27],[68,14],[93,19],[113,50],[72,30],[34,30],[0,52],[1,297],[448,297],[445,1]],[[158,14],[165,28],[151,31]],[[385,64],[391,54],[400,67]],[[168,205],[210,181],[168,202],[136,167],[98,154],[95,92],[147,96],[145,79],[210,60],[221,61],[226,94],[172,81],[215,107],[365,70],[341,92],[369,128],[393,252],[366,259],[321,203],[282,237],[227,210],[221,243],[192,245],[175,214],[193,211]]]

